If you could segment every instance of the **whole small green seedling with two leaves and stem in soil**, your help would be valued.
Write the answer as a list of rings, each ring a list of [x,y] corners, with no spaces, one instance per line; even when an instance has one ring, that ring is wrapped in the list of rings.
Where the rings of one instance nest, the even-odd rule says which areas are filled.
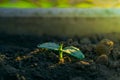
[[[63,48],[63,44],[58,45],[56,43],[48,42],[48,43],[39,44],[37,47],[58,51],[59,63],[64,63],[63,53],[67,53],[80,60],[85,58],[84,54],[77,47],[74,46],[68,46]]]

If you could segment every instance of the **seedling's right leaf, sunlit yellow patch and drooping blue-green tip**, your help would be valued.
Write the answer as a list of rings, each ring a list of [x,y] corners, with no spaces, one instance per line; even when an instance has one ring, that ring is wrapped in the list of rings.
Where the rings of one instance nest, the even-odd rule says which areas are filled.
[[[70,54],[71,56],[74,56],[78,59],[83,59],[85,58],[84,54],[76,47],[70,46],[70,47],[65,47],[63,49],[63,52]]]

